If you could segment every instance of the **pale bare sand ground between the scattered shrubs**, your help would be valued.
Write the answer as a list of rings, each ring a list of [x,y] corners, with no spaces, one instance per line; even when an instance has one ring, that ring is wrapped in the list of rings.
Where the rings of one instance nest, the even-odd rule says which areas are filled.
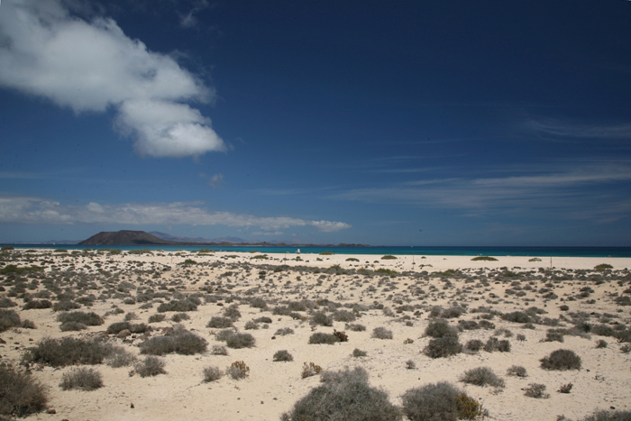
[[[238,256],[226,257],[226,256]],[[34,376],[41,382],[50,386],[49,407],[56,410],[56,414],[46,413],[28,416],[26,419],[84,421],[84,420],[278,420],[283,412],[287,412],[298,398],[306,396],[308,391],[320,384],[319,376],[306,379],[301,378],[303,362],[315,362],[324,370],[342,370],[344,367],[361,366],[370,374],[370,384],[379,387],[389,393],[390,400],[396,405],[401,404],[400,396],[413,387],[423,386],[429,382],[451,381],[461,387],[472,398],[479,399],[484,407],[489,410],[490,419],[497,420],[555,420],[557,416],[567,416],[577,419],[589,415],[596,409],[609,409],[616,407],[618,410],[631,409],[631,354],[620,352],[622,344],[614,338],[604,338],[591,335],[590,339],[578,336],[566,336],[564,343],[542,343],[549,326],[535,325],[535,330],[524,329],[520,324],[509,323],[495,317],[492,322],[498,328],[508,328],[514,335],[509,339],[511,352],[484,352],[468,354],[461,353],[451,358],[431,359],[422,353],[429,338],[423,337],[425,327],[428,325],[428,313],[432,306],[452,307],[459,304],[472,308],[485,306],[498,311],[508,313],[516,310],[525,310],[528,307],[544,308],[548,314],[546,317],[558,318],[564,313],[559,309],[562,304],[567,304],[571,312],[585,311],[597,314],[608,313],[616,316],[613,320],[629,326],[629,310],[631,307],[620,307],[613,302],[612,294],[624,295],[626,288],[631,288],[631,277],[628,271],[617,272],[616,280],[607,280],[601,285],[595,285],[589,280],[565,280],[554,284],[554,292],[560,297],[576,295],[580,288],[590,286],[594,289],[590,299],[594,304],[587,304],[586,299],[562,302],[560,298],[546,301],[533,291],[527,291],[525,297],[507,296],[504,291],[510,281],[503,283],[496,279],[489,279],[488,287],[474,288],[479,283],[475,280],[465,283],[464,280],[452,280],[452,288],[444,289],[444,280],[429,277],[425,280],[412,279],[409,276],[397,276],[388,278],[385,275],[377,275],[367,278],[363,274],[334,275],[325,274],[321,285],[317,285],[317,279],[323,273],[303,273],[296,271],[282,271],[275,273],[268,270],[265,280],[259,279],[259,268],[256,266],[246,273],[242,270],[243,262],[251,265],[271,264],[279,266],[305,265],[329,268],[339,264],[344,269],[367,268],[377,270],[386,268],[398,272],[409,270],[420,272],[426,270],[430,275],[436,270],[467,270],[466,273],[476,276],[475,272],[489,273],[489,270],[508,268],[515,272],[549,268],[550,258],[542,258],[541,262],[530,262],[528,257],[497,256],[498,261],[471,261],[471,256],[398,256],[397,260],[384,261],[381,255],[334,255],[317,256],[302,254],[302,261],[295,261],[297,254],[269,254],[270,260],[252,260],[251,253],[226,253],[199,256],[194,252],[155,252],[153,255],[128,255],[119,256],[96,255],[89,257],[55,256],[50,252],[38,252],[34,254],[31,262],[18,262],[18,265],[45,264],[46,270],[50,270],[54,261],[57,269],[67,270],[69,265],[74,265],[73,270],[78,273],[95,274],[96,264],[113,273],[121,272],[120,280],[140,285],[151,279],[148,274],[133,274],[129,269],[137,268],[147,270],[159,269],[162,281],[173,281],[178,285],[178,290],[187,294],[199,292],[206,281],[221,281],[229,293],[223,293],[224,297],[262,297],[269,303],[269,308],[261,311],[259,308],[250,307],[242,303],[239,307],[242,317],[235,322],[242,332],[252,334],[256,338],[256,347],[251,349],[228,349],[228,356],[212,355],[210,352],[193,356],[169,354],[165,358],[167,375],[144,378],[135,375],[129,376],[130,367],[113,369],[105,364],[97,366],[104,376],[105,387],[95,391],[63,391],[59,388],[59,380],[67,369],[44,368],[42,371],[33,371]],[[316,261],[316,259],[322,261]],[[346,261],[348,258],[356,258],[359,261]],[[194,259],[200,264],[191,266],[178,265],[185,259]],[[413,265],[414,259],[414,265]],[[144,262],[138,266],[137,262]],[[220,266],[211,267],[211,263],[221,262]],[[7,262],[8,263],[8,262]],[[616,258],[553,258],[555,270],[592,270],[600,263],[608,263],[614,270],[626,270],[631,266],[631,259]],[[169,265],[171,270],[162,271],[163,265]],[[425,266],[421,266],[425,265]],[[427,265],[431,265],[427,266]],[[519,268],[519,269],[517,269]],[[226,271],[233,271],[232,276],[221,277]],[[595,273],[595,272],[590,272]],[[626,278],[624,276],[626,275]],[[300,280],[297,277],[300,277]],[[1,277],[0,277],[1,278]],[[380,279],[384,283],[378,286]],[[617,283],[617,279],[623,279],[623,285]],[[155,279],[154,279],[155,280]],[[273,284],[270,283],[273,280]],[[511,279],[512,280],[512,279]],[[98,283],[98,281],[97,281]],[[521,281],[526,286],[526,280]],[[415,285],[416,284],[416,285]],[[436,290],[431,291],[430,286],[435,285]],[[230,287],[228,287],[230,286]],[[423,297],[413,296],[412,286],[423,288],[427,295]],[[170,286],[169,286],[170,287]],[[373,287],[375,291],[369,291]],[[409,287],[409,288],[408,288]],[[544,282],[536,280],[535,289],[544,288]],[[258,288],[253,295],[245,295],[245,291]],[[469,289],[465,289],[469,288]],[[89,290],[97,297],[103,289],[99,283],[98,290]],[[8,288],[7,288],[8,290]],[[156,288],[157,290],[157,288]],[[33,292],[33,291],[29,291]],[[135,295],[132,291],[132,296]],[[201,291],[203,294],[206,292]],[[492,297],[495,294],[496,297]],[[0,293],[5,296],[6,292]],[[614,296],[615,297],[615,296]],[[399,306],[397,300],[403,304],[421,305],[420,316],[414,316],[413,311],[405,311],[395,316],[386,316],[379,309],[371,309],[361,312],[361,317],[354,323],[367,327],[366,332],[349,332],[349,342],[336,343],[334,345],[308,344],[308,338],[314,332],[333,333],[334,329],[343,331],[344,323],[335,322],[333,327],[317,326],[312,328],[308,321],[296,321],[289,316],[273,316],[271,308],[279,305],[284,300],[322,299],[328,298],[340,304],[360,303],[371,305],[375,302],[385,307],[396,309]],[[535,301],[525,302],[524,298],[534,298]],[[59,322],[56,314],[50,309],[20,310],[22,300],[13,297],[20,307],[18,310],[23,319],[32,320],[37,329],[12,329],[0,334],[6,344],[0,345],[0,353],[3,362],[17,362],[23,355],[25,347],[32,346],[43,337],[62,337],[66,335],[82,336],[105,331],[108,325],[123,321],[124,314],[107,316],[102,326],[89,327],[82,332],[63,333],[59,330]],[[134,323],[147,323],[149,316],[156,313],[157,303],[153,308],[139,309],[141,303],[125,305],[122,299],[107,299],[105,302],[96,301],[93,307],[84,307],[82,311],[94,311],[103,316],[113,306],[121,307],[125,311],[135,312],[139,319]],[[399,301],[399,302],[401,302]],[[235,301],[238,302],[238,299]],[[489,304],[490,303],[490,304]],[[225,307],[225,306],[224,306]],[[189,312],[191,320],[183,322],[190,331],[201,335],[208,341],[210,350],[215,344],[224,344],[215,340],[216,329],[206,328],[207,322],[212,316],[221,316],[224,307],[208,303],[198,307],[196,312]],[[479,313],[468,312],[460,317],[460,320],[473,320]],[[167,313],[167,320],[171,314]],[[243,326],[249,320],[260,316],[270,316],[272,323],[269,329],[244,331]],[[308,315],[306,315],[308,316]],[[409,316],[412,326],[408,326],[401,320],[402,316]],[[591,319],[590,323],[596,323]],[[452,325],[456,325],[459,319],[450,319]],[[173,325],[170,321],[152,324],[154,328]],[[562,323],[572,327],[569,323]],[[372,329],[385,326],[394,334],[392,340],[380,340],[370,337]],[[295,334],[278,336],[272,339],[272,335],[282,327],[291,327]],[[159,334],[154,331],[153,334]],[[493,334],[489,330],[464,331],[460,336],[461,343],[478,338],[483,342]],[[517,334],[525,334],[526,341],[516,340]],[[411,338],[414,343],[405,344],[404,340]],[[500,336],[500,339],[504,339]],[[596,341],[605,339],[609,345],[604,349],[596,349]],[[113,338],[119,344],[123,344],[128,350],[139,354],[138,347],[134,343],[123,343],[121,339]],[[359,348],[368,352],[366,357],[355,358],[352,351]],[[571,349],[581,356],[581,371],[544,371],[540,368],[539,360],[557,349]],[[272,355],[279,350],[288,350],[293,357],[293,362],[273,362]],[[416,363],[416,369],[407,370],[406,362],[412,360]],[[217,366],[222,369],[234,361],[246,362],[250,367],[250,376],[244,380],[233,380],[224,376],[221,380],[204,383],[202,371],[206,366]],[[521,365],[526,368],[528,377],[521,379],[506,375],[511,365]],[[458,382],[462,373],[476,367],[488,366],[500,377],[506,380],[506,388],[500,391],[492,388],[482,388],[465,385]],[[550,393],[548,399],[527,398],[523,388],[529,383],[543,383]],[[558,393],[557,389],[562,384],[572,383],[570,394]],[[133,408],[131,408],[133,404]]]

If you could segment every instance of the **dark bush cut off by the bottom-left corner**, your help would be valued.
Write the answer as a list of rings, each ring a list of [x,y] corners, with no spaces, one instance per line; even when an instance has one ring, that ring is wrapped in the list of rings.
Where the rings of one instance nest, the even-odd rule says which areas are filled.
[[[31,374],[0,364],[0,415],[27,416],[43,410],[47,402],[46,387]]]

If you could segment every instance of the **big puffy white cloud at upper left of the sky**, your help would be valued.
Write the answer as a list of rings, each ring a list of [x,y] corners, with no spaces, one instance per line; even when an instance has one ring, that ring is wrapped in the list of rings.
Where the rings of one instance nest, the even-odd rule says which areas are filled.
[[[210,119],[187,105],[215,90],[124,34],[114,20],[73,14],[74,2],[12,0],[0,13],[0,86],[75,113],[116,112],[114,128],[141,155],[198,156],[225,151]],[[193,14],[191,12],[191,19]]]

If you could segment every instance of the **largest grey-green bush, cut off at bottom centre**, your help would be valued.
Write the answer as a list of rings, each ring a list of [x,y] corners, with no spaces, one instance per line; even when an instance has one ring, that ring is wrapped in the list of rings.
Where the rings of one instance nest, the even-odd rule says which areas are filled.
[[[399,421],[401,413],[389,402],[384,391],[371,388],[363,376],[350,371],[348,375],[331,376],[321,386],[311,389],[280,419]]]

